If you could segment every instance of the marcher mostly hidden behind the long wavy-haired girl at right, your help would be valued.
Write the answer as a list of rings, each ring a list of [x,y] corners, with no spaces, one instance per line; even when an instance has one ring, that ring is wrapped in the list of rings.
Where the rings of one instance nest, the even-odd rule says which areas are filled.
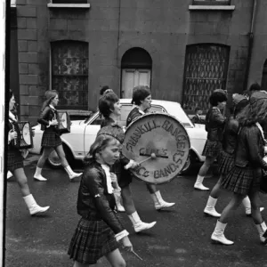
[[[239,133],[239,121],[236,117],[239,115],[239,112],[247,106],[248,100],[245,96],[234,93],[232,96],[233,101],[233,115],[226,120],[225,127],[223,130],[223,150],[220,155],[220,162],[218,171],[221,174],[219,181],[214,185],[213,190],[211,191],[206,207],[204,209],[205,214],[209,214],[214,217],[220,217],[221,214],[218,214],[215,210],[215,205],[217,199],[220,196],[221,183],[226,177],[226,174],[229,174],[231,168],[234,166],[234,153],[236,151],[238,143],[238,133]],[[244,198],[242,201],[243,206],[245,206],[246,214],[251,214],[251,205],[248,197]],[[263,210],[263,208],[261,208]]]

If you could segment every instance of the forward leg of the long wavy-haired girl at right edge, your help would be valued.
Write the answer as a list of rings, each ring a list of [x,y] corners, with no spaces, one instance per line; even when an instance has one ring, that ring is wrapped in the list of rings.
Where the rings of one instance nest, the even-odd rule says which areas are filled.
[[[253,192],[248,194],[248,198],[251,202],[251,216],[255,223],[256,229],[259,232],[261,242],[265,243],[266,239],[263,238],[263,234],[267,233],[267,227],[265,222],[263,221],[263,217],[259,208],[259,194],[258,192]]]

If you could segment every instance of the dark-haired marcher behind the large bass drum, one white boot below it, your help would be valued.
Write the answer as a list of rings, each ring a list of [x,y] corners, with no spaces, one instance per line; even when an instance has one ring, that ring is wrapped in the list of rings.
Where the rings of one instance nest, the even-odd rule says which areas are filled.
[[[132,104],[136,105],[136,107],[129,113],[126,120],[126,126],[130,125],[137,117],[142,117],[142,115],[148,112],[151,107],[151,101],[151,93],[148,86],[135,86],[133,89]],[[157,210],[175,205],[175,203],[168,203],[163,200],[160,191],[155,184],[146,183],[146,186]]]

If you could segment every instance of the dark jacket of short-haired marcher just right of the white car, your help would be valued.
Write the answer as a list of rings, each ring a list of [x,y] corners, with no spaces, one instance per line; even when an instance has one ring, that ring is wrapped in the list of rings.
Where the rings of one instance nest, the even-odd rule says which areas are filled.
[[[223,140],[223,127],[225,117],[217,108],[212,108],[206,114],[206,132],[209,141],[222,141]]]

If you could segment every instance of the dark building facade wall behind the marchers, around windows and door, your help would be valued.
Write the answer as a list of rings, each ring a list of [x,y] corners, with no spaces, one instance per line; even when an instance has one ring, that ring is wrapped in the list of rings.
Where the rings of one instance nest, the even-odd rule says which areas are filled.
[[[89,109],[96,109],[102,85],[110,85],[120,94],[120,62],[132,47],[150,53],[155,99],[182,101],[187,44],[229,45],[227,89],[230,93],[243,90],[253,7],[250,0],[232,0],[233,12],[189,11],[191,0],[89,0],[90,9],[49,9],[44,2],[17,0],[20,112],[25,118],[36,120],[44,91],[50,87],[50,42],[64,39],[88,42]],[[263,3],[259,1],[259,10],[266,5]],[[265,20],[263,10],[261,14]],[[260,20],[257,23],[261,24]],[[264,26],[256,28],[258,33],[261,30]],[[255,45],[260,45],[260,39],[255,36]],[[261,49],[267,53],[266,47]],[[260,79],[258,61],[263,59],[254,52],[252,76]]]

